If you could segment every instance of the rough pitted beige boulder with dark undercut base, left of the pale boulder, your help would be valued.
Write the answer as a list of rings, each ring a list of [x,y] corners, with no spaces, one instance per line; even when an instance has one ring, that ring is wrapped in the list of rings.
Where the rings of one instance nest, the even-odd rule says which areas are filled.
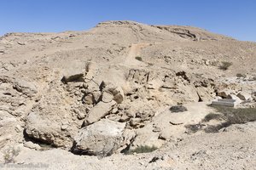
[[[63,88],[58,88],[61,82],[56,83],[53,82],[54,89],[49,88],[48,93],[42,94],[24,117],[25,133],[29,139],[40,143],[70,148],[73,137],[83,123],[80,119],[85,115],[86,109],[82,105],[73,105],[74,99],[63,98],[67,94],[62,91]]]

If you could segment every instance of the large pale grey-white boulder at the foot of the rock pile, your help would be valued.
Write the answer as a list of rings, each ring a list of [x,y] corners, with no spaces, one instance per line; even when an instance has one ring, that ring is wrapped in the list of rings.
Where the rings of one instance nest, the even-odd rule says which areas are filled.
[[[94,156],[109,156],[123,142],[125,123],[102,119],[79,130],[75,137],[74,152]]]

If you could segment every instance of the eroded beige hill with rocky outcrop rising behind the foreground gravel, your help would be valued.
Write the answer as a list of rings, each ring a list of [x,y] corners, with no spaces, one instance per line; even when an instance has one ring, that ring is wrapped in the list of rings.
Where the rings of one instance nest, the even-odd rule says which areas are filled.
[[[255,49],[197,28],[131,21],[0,37],[0,150],[48,144],[109,156],[181,141],[191,134],[185,126],[204,126],[216,95],[255,107],[255,75],[233,77],[255,70]],[[222,59],[232,67],[219,70]]]

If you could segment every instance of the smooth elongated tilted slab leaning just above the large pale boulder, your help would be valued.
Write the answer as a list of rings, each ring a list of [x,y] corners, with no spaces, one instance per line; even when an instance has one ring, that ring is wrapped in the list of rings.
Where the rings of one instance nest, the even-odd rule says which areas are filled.
[[[112,109],[113,105],[116,105],[115,101],[108,103],[99,102],[88,113],[88,116],[84,120],[85,125],[99,121],[102,117],[108,115],[108,112]]]

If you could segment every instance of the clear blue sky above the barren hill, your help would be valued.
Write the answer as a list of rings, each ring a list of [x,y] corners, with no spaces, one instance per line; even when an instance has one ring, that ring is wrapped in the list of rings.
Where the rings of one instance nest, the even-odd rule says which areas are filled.
[[[105,20],[197,26],[256,42],[256,0],[0,0],[7,32],[81,31]]]

